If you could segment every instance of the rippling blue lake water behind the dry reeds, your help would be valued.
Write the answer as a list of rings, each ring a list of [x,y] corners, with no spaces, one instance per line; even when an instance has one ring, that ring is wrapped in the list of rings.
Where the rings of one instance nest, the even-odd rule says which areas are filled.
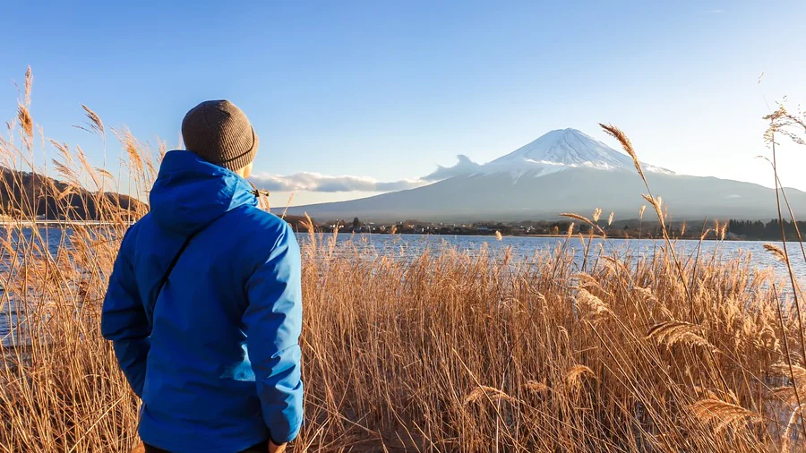
[[[4,232],[0,231],[0,234]],[[47,229],[42,232],[50,244],[51,252],[56,252],[60,243],[61,231],[58,229]],[[68,231],[68,237],[70,232]],[[30,233],[26,236],[30,237]],[[310,240],[308,235],[298,235],[301,244]],[[318,241],[330,240],[330,235],[317,235]],[[565,241],[564,237],[512,237],[505,236],[502,241],[498,241],[494,236],[450,236],[450,235],[347,235],[338,236],[336,252],[346,250],[358,250],[377,254],[386,254],[397,257],[400,260],[412,260],[425,251],[438,253],[445,245],[455,248],[459,252],[476,254],[486,248],[492,254],[504,252],[510,248],[513,260],[528,260],[530,257],[541,252],[551,252]],[[779,246],[782,244],[776,243]],[[584,248],[579,241],[579,236],[570,240],[567,245],[569,250],[575,254],[578,264],[581,264]],[[637,240],[637,239],[608,239],[602,241],[595,239],[591,251],[603,249],[606,253],[623,253],[630,251],[633,256],[651,255],[656,248],[663,247],[664,242],[658,240]],[[678,257],[685,260],[693,256],[700,246],[699,241],[676,241],[675,249]],[[786,267],[776,260],[770,253],[764,250],[762,242],[740,242],[726,241],[717,243],[707,241],[702,243],[701,255],[710,257],[716,253],[719,260],[728,260],[737,256],[752,256],[752,261],[760,268],[773,268],[776,274],[782,278],[787,277]],[[788,244],[788,252],[793,264],[795,275],[799,279],[806,278],[806,262],[803,261],[799,244]],[[0,260],[0,278],[5,280],[3,274],[8,272],[8,257],[4,256]],[[2,294],[2,288],[0,288]],[[11,303],[0,302],[0,342],[9,344],[9,331],[13,322],[13,301]]]

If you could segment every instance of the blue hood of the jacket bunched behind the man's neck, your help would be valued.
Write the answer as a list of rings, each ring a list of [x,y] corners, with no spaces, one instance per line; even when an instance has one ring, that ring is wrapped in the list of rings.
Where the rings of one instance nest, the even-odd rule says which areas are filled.
[[[149,201],[159,226],[184,235],[227,211],[258,204],[252,185],[244,178],[185,150],[165,155]]]

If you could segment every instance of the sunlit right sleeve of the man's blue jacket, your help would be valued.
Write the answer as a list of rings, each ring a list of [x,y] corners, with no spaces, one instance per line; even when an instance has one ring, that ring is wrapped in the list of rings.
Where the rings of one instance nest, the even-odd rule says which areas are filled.
[[[246,344],[271,440],[294,440],[303,421],[299,335],[302,286],[299,245],[285,227],[246,284]]]

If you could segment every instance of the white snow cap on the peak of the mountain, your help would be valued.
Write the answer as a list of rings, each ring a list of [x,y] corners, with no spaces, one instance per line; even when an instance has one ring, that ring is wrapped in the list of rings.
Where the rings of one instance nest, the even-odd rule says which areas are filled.
[[[672,174],[665,168],[642,164],[647,171]],[[480,168],[483,173],[510,172],[513,175],[546,175],[572,167],[599,170],[632,170],[632,158],[613,150],[601,141],[577,129],[548,132]]]

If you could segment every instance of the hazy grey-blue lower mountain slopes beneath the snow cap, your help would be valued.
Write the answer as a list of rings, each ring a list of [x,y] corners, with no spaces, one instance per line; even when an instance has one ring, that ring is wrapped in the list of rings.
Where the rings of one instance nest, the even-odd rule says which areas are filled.
[[[354,201],[290,208],[313,218],[359,217],[363,220],[418,218],[432,221],[519,220],[557,218],[561,212],[588,215],[596,208],[617,218],[637,218],[643,183],[635,171],[603,172],[570,168],[540,177],[510,175],[457,176],[417,189]],[[773,218],[775,191],[758,184],[713,177],[648,174],[656,196],[674,218]],[[794,209],[806,209],[806,192],[788,190]]]

